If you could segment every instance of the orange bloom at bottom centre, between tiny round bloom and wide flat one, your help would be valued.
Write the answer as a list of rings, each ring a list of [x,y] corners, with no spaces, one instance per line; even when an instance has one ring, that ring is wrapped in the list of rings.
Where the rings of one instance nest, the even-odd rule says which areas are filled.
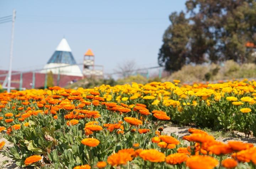
[[[132,160],[132,156],[128,152],[118,152],[114,153],[107,158],[108,164],[112,166],[126,164],[128,161]]]

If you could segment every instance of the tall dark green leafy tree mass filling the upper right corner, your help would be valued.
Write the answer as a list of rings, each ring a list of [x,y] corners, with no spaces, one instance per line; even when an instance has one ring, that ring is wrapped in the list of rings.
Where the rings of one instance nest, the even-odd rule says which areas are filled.
[[[167,71],[176,71],[189,63],[218,63],[234,60],[255,62],[255,0],[187,0],[187,15],[174,12],[163,36],[158,62]]]

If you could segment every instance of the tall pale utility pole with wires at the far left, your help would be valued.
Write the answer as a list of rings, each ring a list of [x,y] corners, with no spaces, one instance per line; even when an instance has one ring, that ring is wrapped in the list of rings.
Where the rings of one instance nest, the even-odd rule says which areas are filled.
[[[10,63],[9,63],[9,72],[8,72],[8,85],[7,92],[11,91],[11,71],[12,71],[12,53],[13,53],[13,40],[14,40],[14,22],[16,17],[16,10],[13,10],[12,13],[12,34],[11,34],[11,49],[10,49]]]

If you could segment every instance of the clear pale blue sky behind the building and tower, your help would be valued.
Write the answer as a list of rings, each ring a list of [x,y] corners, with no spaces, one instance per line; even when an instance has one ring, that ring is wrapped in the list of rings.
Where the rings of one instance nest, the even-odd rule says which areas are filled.
[[[12,69],[43,68],[65,37],[77,63],[91,49],[95,64],[112,73],[118,65],[158,66],[169,15],[186,0],[0,0],[0,17],[16,10]],[[0,24],[0,69],[9,68],[11,22]]]

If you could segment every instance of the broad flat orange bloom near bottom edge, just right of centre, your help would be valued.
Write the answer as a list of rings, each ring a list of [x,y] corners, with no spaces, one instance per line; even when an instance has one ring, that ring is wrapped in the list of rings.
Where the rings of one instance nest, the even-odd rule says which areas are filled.
[[[150,162],[163,162],[165,161],[165,154],[159,152],[155,149],[149,149],[149,150],[142,150],[142,152],[139,153],[139,156],[144,159],[148,160]]]

